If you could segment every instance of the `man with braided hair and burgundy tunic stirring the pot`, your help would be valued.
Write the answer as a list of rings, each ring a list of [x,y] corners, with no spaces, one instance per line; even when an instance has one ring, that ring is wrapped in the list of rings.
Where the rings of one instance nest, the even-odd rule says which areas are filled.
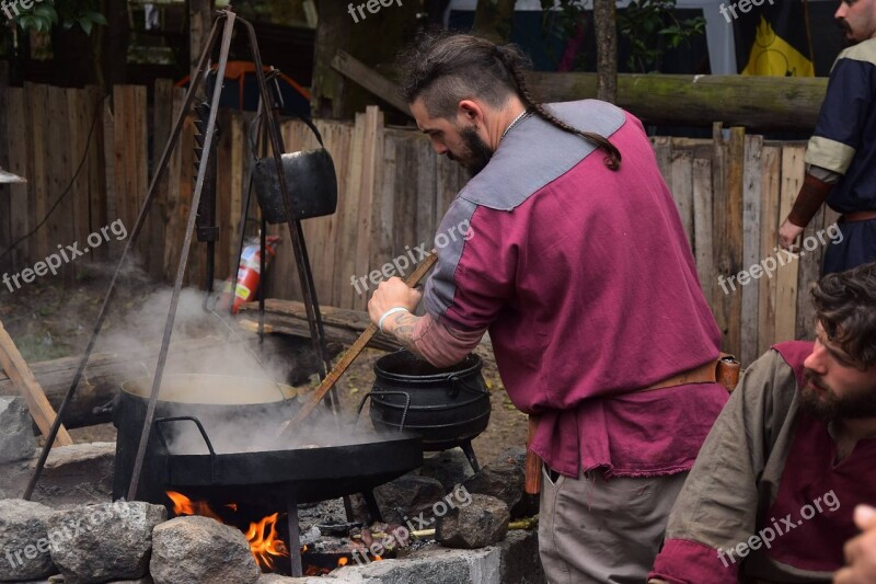
[[[439,233],[471,232],[438,250],[423,295],[391,278],[368,310],[438,367],[488,330],[508,396],[539,420],[548,580],[644,582],[727,400],[721,332],[642,124],[595,100],[542,105],[523,66],[469,35],[401,58],[418,127],[473,175]]]

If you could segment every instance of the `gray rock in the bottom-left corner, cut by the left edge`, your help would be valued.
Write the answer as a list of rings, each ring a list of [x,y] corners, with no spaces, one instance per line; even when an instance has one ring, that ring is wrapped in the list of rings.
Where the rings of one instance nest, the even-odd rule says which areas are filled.
[[[37,580],[55,572],[46,530],[53,513],[32,501],[0,501],[0,581]]]

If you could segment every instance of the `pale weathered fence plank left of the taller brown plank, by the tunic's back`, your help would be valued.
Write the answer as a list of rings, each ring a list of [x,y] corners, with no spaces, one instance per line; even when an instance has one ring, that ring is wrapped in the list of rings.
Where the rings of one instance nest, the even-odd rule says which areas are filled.
[[[693,251],[696,273],[708,306],[723,294],[717,287],[714,249],[712,240],[712,161],[704,158],[693,160]]]

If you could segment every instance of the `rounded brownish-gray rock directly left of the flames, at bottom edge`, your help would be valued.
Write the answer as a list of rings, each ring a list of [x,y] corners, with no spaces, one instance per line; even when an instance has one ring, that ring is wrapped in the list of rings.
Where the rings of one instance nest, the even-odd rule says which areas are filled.
[[[254,584],[261,570],[243,534],[207,517],[176,517],[152,531],[155,584]]]

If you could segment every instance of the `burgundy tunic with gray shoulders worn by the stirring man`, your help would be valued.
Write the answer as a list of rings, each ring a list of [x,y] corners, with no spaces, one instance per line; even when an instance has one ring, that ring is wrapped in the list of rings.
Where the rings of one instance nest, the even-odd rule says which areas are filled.
[[[439,233],[429,316],[489,330],[511,401],[540,416],[532,444],[553,469],[647,477],[688,470],[727,400],[716,383],[631,393],[718,355],[672,196],[642,124],[610,104],[552,104],[610,136],[618,172],[581,138],[535,116],[502,140]],[[592,154],[592,156],[591,156]]]

